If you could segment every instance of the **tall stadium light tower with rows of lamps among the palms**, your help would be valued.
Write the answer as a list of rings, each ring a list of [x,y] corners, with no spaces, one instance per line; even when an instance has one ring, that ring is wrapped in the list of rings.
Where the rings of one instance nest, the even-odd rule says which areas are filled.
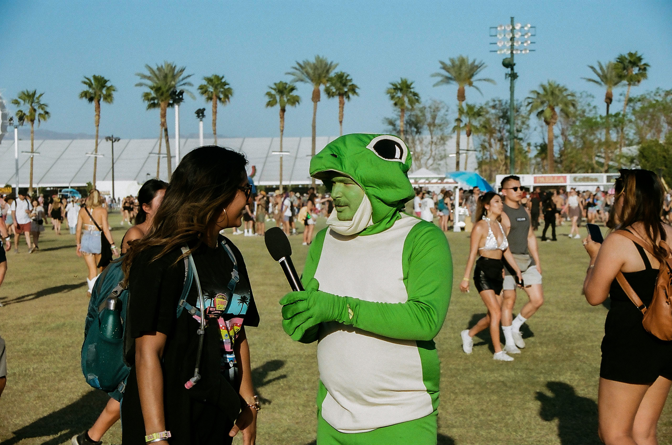
[[[506,54],[508,56],[502,60],[502,65],[504,68],[509,68],[510,71],[505,74],[505,78],[511,81],[511,97],[509,98],[509,173],[511,174],[515,173],[515,105],[513,89],[515,79],[518,77],[517,72],[513,69],[515,66],[513,56],[514,54],[528,54],[530,51],[534,51],[530,49],[530,45],[535,42],[532,42],[530,38],[537,35],[536,26],[532,26],[530,23],[521,25],[521,23],[513,22],[513,17],[511,17],[511,24],[490,27],[490,37],[497,38],[497,42],[490,42],[490,44],[498,46],[497,50],[490,50],[490,52]],[[521,46],[522,48],[520,48]]]

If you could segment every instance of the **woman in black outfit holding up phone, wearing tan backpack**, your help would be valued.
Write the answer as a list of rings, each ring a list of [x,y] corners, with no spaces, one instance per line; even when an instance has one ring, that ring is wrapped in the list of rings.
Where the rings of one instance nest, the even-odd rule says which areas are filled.
[[[610,228],[616,231],[601,245],[590,237],[583,241],[590,257],[586,300],[596,306],[611,299],[599,368],[599,437],[605,445],[657,444],[658,420],[672,386],[672,341],[646,332],[642,311],[618,277],[650,306],[660,290],[659,264],[667,262],[669,270],[672,228],[661,221],[664,191],[654,172],[621,169],[614,187]]]

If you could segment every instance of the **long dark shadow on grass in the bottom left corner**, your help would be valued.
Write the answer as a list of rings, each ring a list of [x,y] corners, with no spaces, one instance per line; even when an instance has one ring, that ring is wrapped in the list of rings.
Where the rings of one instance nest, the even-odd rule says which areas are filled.
[[[40,445],[56,445],[69,442],[72,436],[91,428],[110,396],[103,391],[89,391],[79,400],[37,419],[30,425],[13,432],[14,437],[0,442],[0,445],[13,445],[24,439],[56,436],[44,442],[30,442]]]

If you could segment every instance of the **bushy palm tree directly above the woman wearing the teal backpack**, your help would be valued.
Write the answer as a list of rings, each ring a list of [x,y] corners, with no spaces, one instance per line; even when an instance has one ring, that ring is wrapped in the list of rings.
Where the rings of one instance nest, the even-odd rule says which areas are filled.
[[[166,111],[168,107],[172,107],[175,103],[181,101],[181,93],[187,93],[192,99],[196,99],[191,91],[183,89],[183,87],[193,87],[194,84],[187,81],[193,75],[184,75],[187,69],[185,66],[177,68],[174,63],[163,62],[163,65],[157,64],[156,68],[149,65],[144,66],[149,74],[144,72],[136,72],[135,75],[140,77],[144,82],[138,82],[136,87],[146,87],[149,91],[142,93],[142,100],[147,102],[147,109],[155,108],[158,104],[159,118],[161,120],[161,128],[164,130],[166,143],[166,156],[168,160],[168,181],[170,181],[173,174],[172,159],[170,154],[170,142],[168,138],[168,126],[166,123]]]

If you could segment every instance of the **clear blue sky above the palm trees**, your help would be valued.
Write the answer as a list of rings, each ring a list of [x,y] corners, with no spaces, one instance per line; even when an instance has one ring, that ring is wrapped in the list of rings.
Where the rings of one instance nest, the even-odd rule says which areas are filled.
[[[502,56],[490,53],[489,26],[516,21],[537,26],[536,52],[517,57],[516,97],[554,79],[590,91],[603,107],[603,91],[581,80],[587,64],[639,51],[649,78],[633,93],[672,88],[672,2],[610,1],[23,1],[4,0],[0,13],[0,93],[44,92],[52,118],[42,128],[93,134],[93,106],[78,99],[84,75],[111,79],[118,92],[102,105],[101,134],[157,137],[158,112],[146,111],[134,75],[144,64],[169,60],[202,77],[222,74],[234,89],[220,108],[218,133],[276,136],[278,109],[265,109],[268,85],[289,80],[296,60],[315,54],[339,62],[360,86],[345,106],[344,132],[380,132],[392,115],[384,94],[390,81],[408,77],[423,99],[456,105],[456,87],[436,87],[429,77],[438,60],[465,54],[484,60],[483,96],[468,89],[467,101],[508,97]],[[142,3],[142,5],[139,5]],[[510,6],[506,4],[509,3]],[[309,136],[311,88],[300,84],[302,103],[287,113],[287,136]],[[617,95],[620,91],[617,92]],[[181,132],[198,132],[194,111],[202,97],[181,107]],[[618,109],[618,104],[616,105]],[[337,101],[323,95],[317,133],[338,134]],[[12,109],[13,111],[13,109]],[[169,113],[169,116],[171,113]],[[173,119],[169,130],[173,136]]]

